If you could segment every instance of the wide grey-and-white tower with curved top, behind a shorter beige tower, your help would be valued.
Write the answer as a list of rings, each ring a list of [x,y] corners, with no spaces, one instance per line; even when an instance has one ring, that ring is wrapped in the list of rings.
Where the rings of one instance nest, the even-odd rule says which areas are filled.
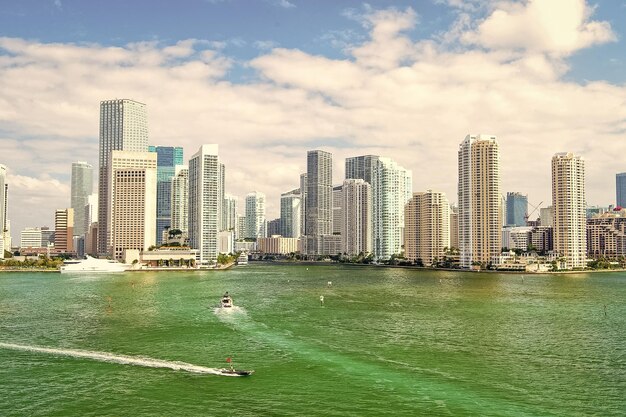
[[[402,252],[404,205],[411,198],[413,175],[390,158],[364,155],[346,159],[346,179],[372,185],[374,257],[386,260]]]

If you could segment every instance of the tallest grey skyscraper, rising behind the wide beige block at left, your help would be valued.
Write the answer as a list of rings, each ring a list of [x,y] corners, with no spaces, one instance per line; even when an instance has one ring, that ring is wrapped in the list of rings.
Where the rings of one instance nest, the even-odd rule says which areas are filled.
[[[98,168],[98,253],[111,248],[111,207],[109,200],[109,158],[111,151],[148,151],[146,105],[134,100],[100,102],[100,152]]]

